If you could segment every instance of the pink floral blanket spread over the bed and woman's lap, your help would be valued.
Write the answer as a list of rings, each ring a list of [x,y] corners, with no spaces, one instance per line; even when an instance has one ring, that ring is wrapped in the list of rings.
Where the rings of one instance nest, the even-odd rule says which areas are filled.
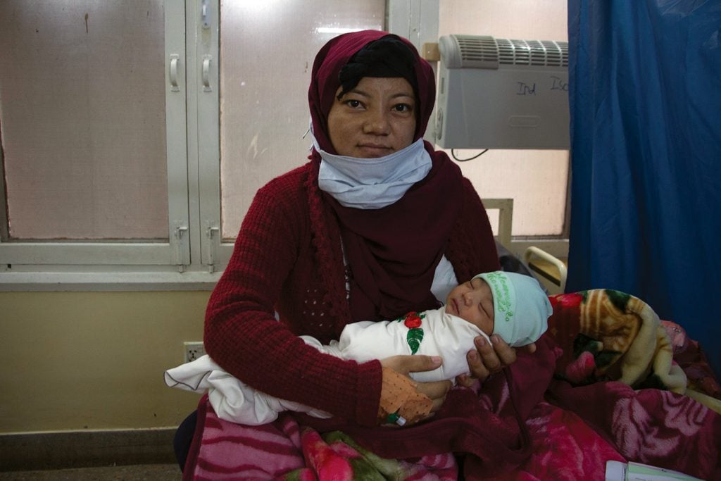
[[[203,397],[184,480],[455,480],[462,475],[466,480],[593,481],[604,479],[610,460],[721,480],[721,414],[712,408],[721,391],[698,343],[642,326],[658,320],[629,315],[637,309],[630,296],[611,300],[611,291],[594,300],[588,292],[554,296],[549,332],[536,343],[536,353],[519,351],[516,363],[482,386],[452,389],[443,409],[419,425],[361,428],[286,413],[274,423],[250,427],[219,419]],[[596,309],[592,304],[606,301],[614,305]],[[614,319],[604,322],[615,325],[623,317],[640,325],[626,329],[634,336],[627,342],[596,334],[594,343],[588,315],[590,321],[610,315]],[[676,325],[659,325],[671,334],[682,332]],[[653,336],[642,338],[643,332]],[[672,356],[666,360],[661,351],[668,340]],[[625,358],[621,369],[616,364],[624,362],[624,353],[609,346],[634,352],[634,343],[638,352],[643,351],[639,345],[650,343],[653,356],[642,353],[639,362],[648,364],[642,369]],[[588,345],[590,350],[584,348]],[[633,387],[614,379],[622,378],[621,371],[635,373]],[[702,402],[676,385],[684,373],[691,392],[704,393]],[[645,387],[652,378],[655,387]],[[663,379],[670,379],[677,392]]]

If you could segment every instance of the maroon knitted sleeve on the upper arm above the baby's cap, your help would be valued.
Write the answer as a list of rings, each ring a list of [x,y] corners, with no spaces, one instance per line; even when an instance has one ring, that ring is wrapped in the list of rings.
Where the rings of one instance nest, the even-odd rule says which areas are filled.
[[[459,283],[474,275],[500,269],[488,214],[471,181],[463,179],[463,204],[451,232],[446,257]]]

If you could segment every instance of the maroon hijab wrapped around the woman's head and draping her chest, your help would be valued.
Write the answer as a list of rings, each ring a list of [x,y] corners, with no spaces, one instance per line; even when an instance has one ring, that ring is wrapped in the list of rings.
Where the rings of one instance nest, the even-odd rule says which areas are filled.
[[[364,45],[386,35],[390,34],[377,30],[340,35],[316,56],[308,98],[314,135],[324,151],[336,153],[329,140],[327,118],[340,87],[340,69]],[[435,76],[415,47],[401,40],[415,56],[417,140],[423,136],[433,110]],[[428,142],[425,149],[433,159],[433,167],[425,179],[391,206],[374,210],[347,208],[324,195],[336,213],[350,267],[353,320],[392,319],[411,310],[438,306],[430,286],[460,211],[462,177],[443,151],[434,151]],[[315,150],[312,159],[320,162]]]

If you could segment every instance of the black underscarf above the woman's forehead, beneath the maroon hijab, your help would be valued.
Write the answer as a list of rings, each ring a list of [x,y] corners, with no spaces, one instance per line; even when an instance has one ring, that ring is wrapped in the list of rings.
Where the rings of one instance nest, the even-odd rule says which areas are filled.
[[[363,77],[402,77],[413,87],[418,97],[415,78],[415,55],[408,45],[395,35],[386,35],[366,44],[340,69],[340,94],[337,99],[358,85]]]

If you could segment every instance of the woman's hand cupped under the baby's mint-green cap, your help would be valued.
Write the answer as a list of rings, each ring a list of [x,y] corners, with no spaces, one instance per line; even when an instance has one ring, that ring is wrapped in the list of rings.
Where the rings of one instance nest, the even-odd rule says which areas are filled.
[[[499,372],[505,366],[516,362],[516,349],[510,347],[505,340],[497,334],[492,335],[489,344],[485,337],[478,336],[474,339],[475,350],[470,350],[466,355],[470,375],[461,374],[456,378],[459,385],[471,387],[476,379],[485,381],[488,376]],[[529,353],[536,351],[534,343],[524,345],[523,349]]]

